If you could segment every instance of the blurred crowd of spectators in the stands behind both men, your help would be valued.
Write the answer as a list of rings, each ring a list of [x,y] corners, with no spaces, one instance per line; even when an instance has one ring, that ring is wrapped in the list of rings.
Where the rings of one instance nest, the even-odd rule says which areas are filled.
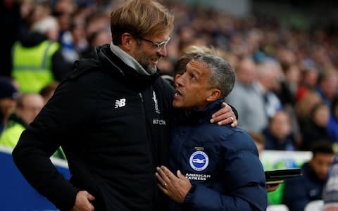
[[[111,42],[110,12],[121,1],[1,2],[0,133],[11,128],[13,115],[20,117],[26,94],[45,96],[47,103],[75,60]],[[338,32],[164,3],[175,11],[175,30],[168,56],[158,63],[163,75],[174,75],[187,46],[213,46],[236,72],[225,101],[239,113],[238,126],[262,137],[265,149],[311,151],[320,141],[338,143]]]

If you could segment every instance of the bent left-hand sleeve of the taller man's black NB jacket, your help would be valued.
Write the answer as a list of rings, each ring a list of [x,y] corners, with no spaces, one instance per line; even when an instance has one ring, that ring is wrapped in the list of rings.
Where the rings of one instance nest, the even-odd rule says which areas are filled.
[[[58,173],[49,159],[59,146],[75,149],[76,134],[89,120],[91,110],[99,94],[81,84],[65,80],[41,112],[21,134],[13,150],[13,160],[25,179],[61,210],[70,210],[79,189]],[[72,142],[73,141],[73,142]]]

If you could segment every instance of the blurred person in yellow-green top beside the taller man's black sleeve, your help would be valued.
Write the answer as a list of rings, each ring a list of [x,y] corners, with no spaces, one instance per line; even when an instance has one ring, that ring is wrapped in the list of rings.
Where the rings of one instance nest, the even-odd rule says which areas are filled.
[[[20,134],[33,122],[44,106],[44,100],[39,94],[22,94],[17,101],[15,113],[8,120],[8,124],[0,136],[0,145],[14,148]]]

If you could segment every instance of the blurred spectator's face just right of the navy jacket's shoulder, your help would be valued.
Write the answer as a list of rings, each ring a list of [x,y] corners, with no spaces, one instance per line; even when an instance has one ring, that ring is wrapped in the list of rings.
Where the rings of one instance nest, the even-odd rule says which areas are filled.
[[[271,119],[270,130],[277,139],[284,139],[291,132],[289,116],[284,112],[277,112]]]

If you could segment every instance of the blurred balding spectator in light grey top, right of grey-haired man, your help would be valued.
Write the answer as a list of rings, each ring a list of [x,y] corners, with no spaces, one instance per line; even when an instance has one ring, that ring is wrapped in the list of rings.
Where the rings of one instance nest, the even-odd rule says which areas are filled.
[[[248,132],[261,132],[268,125],[268,115],[258,87],[256,64],[251,58],[242,58],[235,71],[237,80],[225,101],[236,108],[239,127]]]

